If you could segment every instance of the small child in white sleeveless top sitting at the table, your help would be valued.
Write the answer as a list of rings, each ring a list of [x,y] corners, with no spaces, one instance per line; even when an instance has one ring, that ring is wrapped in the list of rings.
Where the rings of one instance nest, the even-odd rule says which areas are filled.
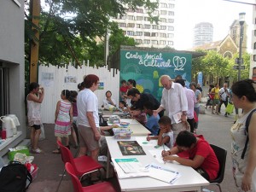
[[[172,132],[172,120],[168,116],[163,116],[159,119],[158,124],[160,126],[159,136],[148,136],[147,141],[151,139],[157,139],[158,145],[164,145],[168,148],[173,146],[173,132]]]

